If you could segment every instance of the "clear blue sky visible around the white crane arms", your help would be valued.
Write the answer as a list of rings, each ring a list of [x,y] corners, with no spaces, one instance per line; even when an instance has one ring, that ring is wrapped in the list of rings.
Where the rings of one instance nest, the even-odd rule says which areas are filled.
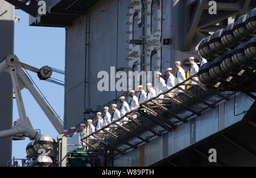
[[[14,53],[23,63],[41,68],[44,65],[61,69],[65,66],[65,29],[52,27],[30,27],[28,14],[16,10],[15,15],[20,16],[20,22],[15,23]],[[64,113],[64,87],[46,81],[39,81],[35,73],[30,72],[31,77],[39,86],[39,89],[47,97],[47,100],[57,111],[63,120]],[[56,75],[56,78],[64,80],[64,76]],[[51,135],[56,139],[57,132],[48,121],[46,115],[35,102],[31,94],[22,90],[24,105],[28,118],[34,129],[40,129],[42,134]],[[13,121],[18,119],[16,101],[14,100]],[[26,146],[29,139],[13,141],[13,156],[24,158],[26,156]]]

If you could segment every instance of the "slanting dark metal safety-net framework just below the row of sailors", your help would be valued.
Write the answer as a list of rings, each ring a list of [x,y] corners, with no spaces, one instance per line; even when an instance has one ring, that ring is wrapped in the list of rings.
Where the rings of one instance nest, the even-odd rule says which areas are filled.
[[[218,92],[207,88],[194,78],[197,74],[174,86],[174,88],[143,102],[138,109],[102,129],[82,138],[81,141],[94,151],[106,155],[125,154],[139,144],[150,142],[156,136],[173,131],[179,123],[201,115],[219,102],[229,100],[233,92]],[[195,84],[189,84],[193,81]],[[185,86],[190,86],[185,89]]]

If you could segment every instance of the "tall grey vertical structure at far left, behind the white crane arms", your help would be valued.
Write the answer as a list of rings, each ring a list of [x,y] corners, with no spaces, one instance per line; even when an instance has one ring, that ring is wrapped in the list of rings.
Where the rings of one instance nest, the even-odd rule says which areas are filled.
[[[0,62],[14,53],[14,6],[0,1]],[[9,73],[0,74],[0,131],[13,124],[13,86]],[[12,139],[0,139],[0,166],[11,160]]]

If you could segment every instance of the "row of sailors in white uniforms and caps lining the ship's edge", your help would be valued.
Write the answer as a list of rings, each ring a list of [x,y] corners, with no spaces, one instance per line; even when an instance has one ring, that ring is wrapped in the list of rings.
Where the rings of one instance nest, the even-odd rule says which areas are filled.
[[[201,55],[199,55],[199,60],[201,61],[200,67],[202,67],[207,60],[205,60]],[[189,57],[188,63],[190,65],[189,68],[189,77],[195,75],[199,72],[199,66],[195,63],[194,57]],[[175,84],[179,84],[186,80],[185,71],[181,67],[180,61],[175,62],[175,68],[177,69],[176,76],[172,74],[172,68],[166,69],[166,75],[168,76],[167,82],[162,78],[162,73],[156,72],[156,77],[158,78],[158,82],[156,83],[156,90],[152,88],[152,84],[148,83],[146,85],[147,92],[143,89],[142,85],[138,86],[139,96],[135,95],[135,90],[131,90],[129,95],[131,100],[129,104],[125,101],[125,97],[122,96],[119,98],[121,106],[117,109],[117,104],[112,104],[112,114],[109,113],[109,107],[104,107],[104,115],[102,117],[102,113],[98,112],[96,114],[97,123],[96,127],[93,126],[92,119],[87,120],[87,128],[85,128],[85,124],[81,123],[79,129],[77,130],[76,127],[71,127],[71,136],[76,135],[77,133],[81,133],[83,136],[90,135],[94,133],[95,130],[100,130],[102,127],[105,127],[116,121],[117,119],[123,117],[126,113],[129,113],[131,110],[135,110],[139,107],[139,104],[150,100],[158,96],[160,93],[166,92],[171,88],[174,88]],[[196,78],[195,78],[196,80]],[[193,82],[192,82],[193,83]],[[182,86],[185,87],[185,86]],[[64,130],[64,135],[68,135],[68,130]]]

